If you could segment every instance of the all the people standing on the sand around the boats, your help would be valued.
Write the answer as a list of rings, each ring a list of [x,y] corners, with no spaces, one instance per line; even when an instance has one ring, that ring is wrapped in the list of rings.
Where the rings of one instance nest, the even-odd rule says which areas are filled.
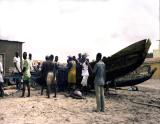
[[[20,75],[20,80],[16,81],[17,88],[19,88],[19,82],[22,82],[22,96],[25,96],[25,89],[27,87],[28,95],[30,97],[30,77],[31,77],[31,70],[32,67],[32,54],[29,54],[29,59],[27,58],[27,52],[23,53],[23,61],[22,61],[22,68],[20,66],[20,57],[16,52],[15,57],[13,59],[17,75]],[[41,95],[43,95],[43,90],[46,88],[47,96],[50,98],[50,89],[53,86],[56,97],[57,92],[57,74],[58,74],[58,56],[55,57],[54,55],[46,56],[46,60],[42,63],[40,75],[41,75]],[[82,94],[85,93],[85,89],[87,87],[87,80],[89,74],[94,73],[94,85],[95,85],[95,93],[96,93],[96,103],[97,109],[96,111],[104,111],[104,84],[105,84],[105,64],[102,61],[102,54],[98,53],[96,56],[96,64],[94,68],[92,68],[89,64],[89,59],[87,59],[86,54],[79,54],[78,58],[76,59],[75,56],[68,57],[67,60],[67,69],[68,69],[68,92],[71,93],[76,89],[80,89]],[[0,90],[2,89],[1,84],[3,82],[3,78],[1,78],[3,72],[3,68],[0,63]]]

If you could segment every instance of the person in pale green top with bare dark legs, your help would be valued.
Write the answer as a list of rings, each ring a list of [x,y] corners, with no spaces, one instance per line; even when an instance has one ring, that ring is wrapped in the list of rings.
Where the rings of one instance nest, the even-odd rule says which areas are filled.
[[[26,90],[26,86],[28,89],[28,95],[27,97],[30,97],[30,65],[29,65],[29,61],[27,60],[27,52],[23,53],[23,64],[22,64],[23,70],[22,70],[22,77],[23,77],[23,89],[22,89],[22,96],[24,97],[25,95],[25,90]]]

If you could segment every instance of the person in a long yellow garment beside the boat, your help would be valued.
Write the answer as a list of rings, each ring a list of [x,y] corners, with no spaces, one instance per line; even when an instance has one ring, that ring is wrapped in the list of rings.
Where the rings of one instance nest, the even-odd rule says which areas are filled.
[[[76,85],[76,62],[72,57],[68,59],[68,90],[70,91],[75,89]]]

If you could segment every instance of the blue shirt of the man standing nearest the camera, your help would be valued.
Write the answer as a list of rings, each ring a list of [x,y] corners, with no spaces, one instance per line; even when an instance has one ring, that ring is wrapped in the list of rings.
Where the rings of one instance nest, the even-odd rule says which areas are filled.
[[[94,79],[94,84],[95,85],[104,85],[105,84],[105,75],[106,75],[106,70],[105,70],[105,64],[100,60],[97,62],[94,66],[93,73],[95,73],[95,79]]]

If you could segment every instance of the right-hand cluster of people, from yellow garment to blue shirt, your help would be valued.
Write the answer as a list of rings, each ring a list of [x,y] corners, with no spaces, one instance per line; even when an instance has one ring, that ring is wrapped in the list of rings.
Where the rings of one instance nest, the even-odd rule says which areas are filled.
[[[89,60],[87,59],[87,55],[79,54],[79,58],[75,59],[75,57],[70,57],[67,60],[68,67],[68,87],[70,89],[80,88],[82,93],[84,94],[87,87],[87,80],[90,73],[95,74],[94,86],[96,92],[96,103],[97,109],[96,112],[104,112],[105,103],[104,103],[104,85],[105,85],[105,76],[106,76],[106,67],[104,62],[102,61],[102,54],[97,53],[96,56],[96,64],[94,68],[89,64]],[[82,78],[79,78],[82,77]],[[75,88],[75,89],[76,89]]]

